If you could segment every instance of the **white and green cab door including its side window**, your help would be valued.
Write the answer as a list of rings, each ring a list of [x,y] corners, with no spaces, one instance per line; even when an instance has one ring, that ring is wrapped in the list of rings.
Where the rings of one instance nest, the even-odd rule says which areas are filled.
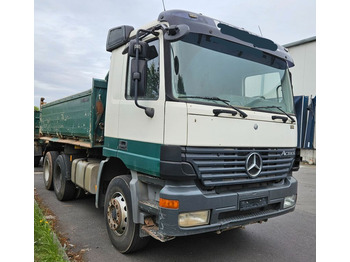
[[[138,103],[153,108],[154,116],[147,116],[145,110],[135,105],[130,77],[132,58],[129,57],[118,117],[118,157],[132,170],[159,175],[160,146],[164,139],[163,47],[158,38],[148,44],[155,46],[158,56],[147,61],[147,86],[145,92],[138,95]]]

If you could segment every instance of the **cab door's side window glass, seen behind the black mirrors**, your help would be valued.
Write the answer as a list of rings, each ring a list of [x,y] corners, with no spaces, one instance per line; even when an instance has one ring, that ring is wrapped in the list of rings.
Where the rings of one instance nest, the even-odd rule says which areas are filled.
[[[149,46],[154,46],[157,49],[158,56],[147,61],[147,87],[144,95],[138,95],[140,100],[157,100],[159,97],[159,40],[153,40],[148,43]],[[131,88],[131,57],[128,63],[128,83],[126,86],[126,99],[134,99],[134,91]]]

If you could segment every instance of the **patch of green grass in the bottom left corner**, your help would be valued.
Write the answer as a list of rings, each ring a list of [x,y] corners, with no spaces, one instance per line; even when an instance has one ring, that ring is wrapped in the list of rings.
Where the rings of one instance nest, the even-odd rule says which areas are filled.
[[[55,239],[50,222],[46,221],[41,209],[34,201],[34,261],[66,261]]]

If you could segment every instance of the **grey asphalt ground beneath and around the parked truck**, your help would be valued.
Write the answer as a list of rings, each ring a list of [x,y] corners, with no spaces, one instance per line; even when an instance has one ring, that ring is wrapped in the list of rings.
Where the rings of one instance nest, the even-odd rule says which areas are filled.
[[[94,197],[60,202],[45,189],[42,168],[34,169],[34,187],[55,214],[57,231],[65,236],[84,261],[316,261],[316,167],[301,166],[294,212],[217,235],[207,233],[178,237],[161,243],[151,239],[136,253],[120,254],[111,244],[103,210]]]

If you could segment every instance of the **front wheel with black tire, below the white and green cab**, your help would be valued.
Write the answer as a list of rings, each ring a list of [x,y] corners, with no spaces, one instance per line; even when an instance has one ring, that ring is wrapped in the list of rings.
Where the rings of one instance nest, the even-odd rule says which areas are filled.
[[[143,248],[149,237],[139,236],[140,225],[132,218],[130,175],[115,177],[108,185],[104,215],[108,236],[120,253],[131,253]]]

